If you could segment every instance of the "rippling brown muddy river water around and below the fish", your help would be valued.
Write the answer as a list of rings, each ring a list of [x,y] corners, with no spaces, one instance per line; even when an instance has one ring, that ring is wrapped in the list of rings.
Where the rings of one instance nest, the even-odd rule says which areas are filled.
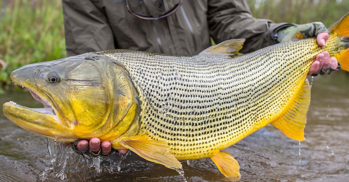
[[[347,73],[314,78],[306,140],[300,147],[298,141],[267,126],[226,149],[239,161],[240,181],[349,181],[348,90]],[[1,104],[10,100],[41,107],[29,92],[0,95]],[[44,137],[17,127],[2,109],[0,113],[0,181],[183,181],[176,171],[134,153],[120,165],[118,154],[100,159],[101,163],[98,158],[83,159],[69,148],[55,147],[53,141],[48,144]],[[210,159],[188,163],[182,161],[187,181],[227,181]]]

